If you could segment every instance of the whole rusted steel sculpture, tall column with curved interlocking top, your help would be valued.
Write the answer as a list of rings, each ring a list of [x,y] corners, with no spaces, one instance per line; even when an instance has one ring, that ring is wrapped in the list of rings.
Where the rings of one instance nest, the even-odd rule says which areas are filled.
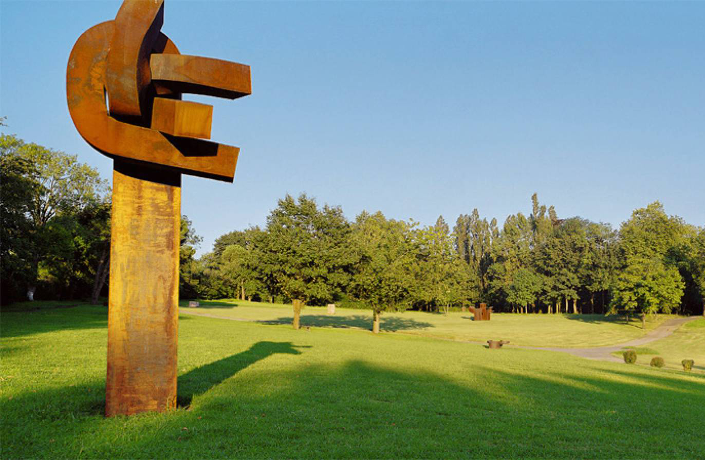
[[[212,106],[235,99],[250,66],[179,54],[160,32],[164,0],[125,0],[73,46],[73,123],[114,159],[106,416],[176,406],[181,174],[233,181],[238,147],[209,142]]]

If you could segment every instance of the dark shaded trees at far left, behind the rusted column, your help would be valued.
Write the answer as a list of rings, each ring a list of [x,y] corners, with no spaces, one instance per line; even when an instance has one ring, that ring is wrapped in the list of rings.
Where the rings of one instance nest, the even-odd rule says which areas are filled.
[[[3,119],[0,118],[0,125]],[[107,295],[111,194],[75,155],[0,135],[0,304]],[[181,219],[180,287],[200,237]]]

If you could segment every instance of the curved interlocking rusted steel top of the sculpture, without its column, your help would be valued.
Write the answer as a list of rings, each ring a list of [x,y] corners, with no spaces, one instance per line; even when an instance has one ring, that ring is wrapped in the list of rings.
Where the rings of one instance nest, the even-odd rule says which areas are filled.
[[[250,66],[183,56],[160,29],[164,0],[125,0],[71,50],[66,99],[73,124],[107,156],[233,181],[238,147],[209,139],[213,108],[182,93],[252,93]]]

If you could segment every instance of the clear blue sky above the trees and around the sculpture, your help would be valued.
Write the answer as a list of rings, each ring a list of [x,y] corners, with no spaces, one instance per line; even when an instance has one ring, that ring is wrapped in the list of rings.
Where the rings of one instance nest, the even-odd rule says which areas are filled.
[[[120,1],[1,1],[0,115],[19,137],[111,160],[73,128],[66,61]],[[252,66],[214,105],[235,182],[183,180],[204,237],[262,225],[286,193],[427,225],[503,222],[532,193],[618,225],[660,200],[705,224],[705,3],[166,1],[183,54]]]

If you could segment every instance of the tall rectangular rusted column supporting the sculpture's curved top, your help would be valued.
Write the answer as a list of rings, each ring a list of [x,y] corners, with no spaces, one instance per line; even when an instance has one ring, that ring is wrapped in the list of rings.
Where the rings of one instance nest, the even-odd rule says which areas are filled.
[[[180,182],[115,161],[106,416],[176,406]]]

